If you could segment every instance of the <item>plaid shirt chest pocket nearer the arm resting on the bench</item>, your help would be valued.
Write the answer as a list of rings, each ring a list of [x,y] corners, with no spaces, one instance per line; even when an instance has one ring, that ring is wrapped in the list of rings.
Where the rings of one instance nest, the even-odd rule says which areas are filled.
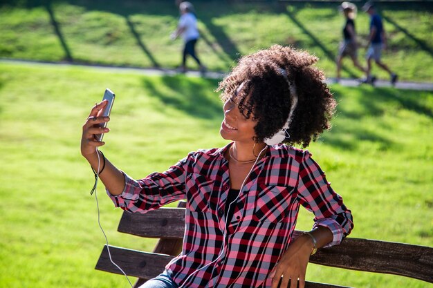
[[[292,186],[258,184],[252,220],[257,222],[287,222],[296,196]]]

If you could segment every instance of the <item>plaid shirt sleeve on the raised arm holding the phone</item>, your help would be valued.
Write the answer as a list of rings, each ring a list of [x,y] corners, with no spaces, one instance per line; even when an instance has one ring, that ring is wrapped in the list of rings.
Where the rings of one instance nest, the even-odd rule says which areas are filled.
[[[190,154],[191,155],[191,154]],[[116,207],[125,211],[146,213],[165,204],[185,198],[185,171],[188,155],[163,173],[151,173],[140,180],[125,177],[125,188],[120,195],[107,194]]]

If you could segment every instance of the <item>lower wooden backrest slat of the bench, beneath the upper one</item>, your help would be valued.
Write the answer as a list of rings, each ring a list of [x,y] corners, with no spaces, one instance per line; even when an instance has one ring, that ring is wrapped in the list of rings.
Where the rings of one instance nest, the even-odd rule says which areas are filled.
[[[146,280],[158,276],[165,265],[172,260],[172,256],[167,256],[157,253],[146,253],[131,249],[110,246],[111,258],[119,265],[128,276],[140,278],[140,284]],[[107,245],[102,249],[102,253],[96,264],[95,269],[107,271],[111,273],[122,274],[120,270],[113,265],[109,260]],[[136,284],[137,285],[137,284]],[[138,287],[138,286],[137,286]],[[338,285],[330,285],[317,282],[306,282],[306,288],[347,288]]]

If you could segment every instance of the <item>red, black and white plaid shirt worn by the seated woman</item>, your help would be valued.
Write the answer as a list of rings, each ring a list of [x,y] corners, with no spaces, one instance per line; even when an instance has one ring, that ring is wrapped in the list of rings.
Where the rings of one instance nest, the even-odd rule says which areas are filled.
[[[328,227],[339,244],[353,228],[351,211],[308,151],[270,146],[246,180],[225,221],[228,161],[219,149],[192,152],[163,173],[142,180],[125,175],[116,207],[145,213],[187,200],[182,253],[166,269],[183,287],[270,287],[270,271],[291,243],[300,205]]]

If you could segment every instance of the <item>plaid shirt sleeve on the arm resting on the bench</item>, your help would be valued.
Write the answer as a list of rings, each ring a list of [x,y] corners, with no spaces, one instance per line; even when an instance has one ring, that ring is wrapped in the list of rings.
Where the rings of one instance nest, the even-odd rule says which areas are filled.
[[[341,196],[333,191],[308,151],[304,152],[300,163],[297,192],[300,204],[315,215],[313,228],[323,226],[331,230],[333,240],[325,247],[340,244],[353,229],[351,211],[343,204]]]

